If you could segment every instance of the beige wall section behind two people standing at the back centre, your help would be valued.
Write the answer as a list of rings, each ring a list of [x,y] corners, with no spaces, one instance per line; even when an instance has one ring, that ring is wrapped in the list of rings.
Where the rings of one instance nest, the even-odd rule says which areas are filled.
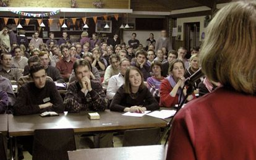
[[[122,34],[122,38],[124,42],[128,45],[128,41],[132,37],[132,33],[136,33],[137,37],[136,39],[140,41],[143,46],[146,46],[146,40],[149,38],[150,33],[154,34],[154,39],[158,40],[160,38],[160,32],[161,31],[140,31],[140,30],[124,30]]]

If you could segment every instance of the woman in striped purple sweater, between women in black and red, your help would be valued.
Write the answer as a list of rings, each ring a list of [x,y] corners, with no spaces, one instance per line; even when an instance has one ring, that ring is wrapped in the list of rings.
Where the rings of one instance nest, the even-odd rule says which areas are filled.
[[[160,84],[164,80],[164,77],[161,75],[162,64],[159,61],[154,61],[150,66],[153,76],[147,78],[148,90],[153,97],[159,102],[160,101]]]

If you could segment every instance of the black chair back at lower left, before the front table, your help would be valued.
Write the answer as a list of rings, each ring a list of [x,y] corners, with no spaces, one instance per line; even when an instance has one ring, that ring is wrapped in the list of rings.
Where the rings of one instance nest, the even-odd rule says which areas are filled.
[[[33,160],[69,159],[67,151],[75,150],[74,130],[43,129],[35,130]]]

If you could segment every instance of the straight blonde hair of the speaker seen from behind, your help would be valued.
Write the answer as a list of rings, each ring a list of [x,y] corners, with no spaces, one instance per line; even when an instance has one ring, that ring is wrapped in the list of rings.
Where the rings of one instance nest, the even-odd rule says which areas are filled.
[[[231,2],[207,27],[200,53],[203,73],[244,93],[256,91],[256,2]]]

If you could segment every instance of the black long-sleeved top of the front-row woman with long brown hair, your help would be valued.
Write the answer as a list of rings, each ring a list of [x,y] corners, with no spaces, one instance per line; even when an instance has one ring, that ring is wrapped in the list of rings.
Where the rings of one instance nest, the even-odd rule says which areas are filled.
[[[126,107],[132,106],[143,106],[147,108],[147,111],[159,109],[158,102],[153,98],[147,87],[139,89],[139,91],[134,95],[134,98],[132,98],[130,94],[125,93],[124,85],[122,85],[112,99],[110,110],[124,112]]]

